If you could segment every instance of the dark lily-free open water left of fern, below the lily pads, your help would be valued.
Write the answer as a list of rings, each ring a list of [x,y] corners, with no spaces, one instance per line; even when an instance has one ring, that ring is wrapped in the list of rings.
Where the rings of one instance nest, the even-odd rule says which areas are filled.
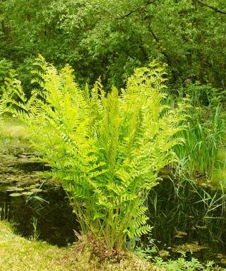
[[[44,192],[37,195],[37,198],[30,196],[28,200],[28,197],[11,197],[9,193],[1,191],[1,219],[8,219],[18,234],[32,239],[35,218],[39,239],[57,246],[73,243],[73,230],[78,231],[78,222],[64,190],[45,186]]]

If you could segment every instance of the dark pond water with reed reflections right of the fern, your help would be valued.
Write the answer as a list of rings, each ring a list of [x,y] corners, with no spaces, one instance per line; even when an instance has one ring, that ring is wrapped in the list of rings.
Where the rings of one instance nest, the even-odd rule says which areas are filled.
[[[201,179],[179,179],[169,170],[161,174],[148,205],[153,238],[162,255],[178,258],[185,253],[188,260],[193,256],[226,267],[225,193],[210,183],[201,186]]]

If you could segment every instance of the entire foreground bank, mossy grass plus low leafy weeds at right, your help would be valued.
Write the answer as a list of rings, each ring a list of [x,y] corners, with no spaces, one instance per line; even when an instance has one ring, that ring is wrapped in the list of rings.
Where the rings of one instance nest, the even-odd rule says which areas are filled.
[[[88,249],[79,251],[78,246],[58,248],[42,241],[28,240],[13,233],[11,224],[0,221],[0,270],[1,271],[225,271],[207,263],[203,267],[195,258],[186,261],[163,261],[156,265],[141,260],[133,253],[125,253],[121,260],[93,257]],[[81,248],[81,244],[79,245]]]

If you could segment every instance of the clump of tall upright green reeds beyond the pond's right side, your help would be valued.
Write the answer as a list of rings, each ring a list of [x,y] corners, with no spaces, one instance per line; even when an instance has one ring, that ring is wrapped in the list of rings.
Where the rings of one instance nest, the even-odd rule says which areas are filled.
[[[192,118],[188,128],[180,132],[184,145],[177,145],[174,151],[179,157],[179,171],[186,171],[190,177],[206,176],[212,179],[213,171],[222,161],[218,156],[225,136],[225,121],[220,104],[215,109],[191,109]]]

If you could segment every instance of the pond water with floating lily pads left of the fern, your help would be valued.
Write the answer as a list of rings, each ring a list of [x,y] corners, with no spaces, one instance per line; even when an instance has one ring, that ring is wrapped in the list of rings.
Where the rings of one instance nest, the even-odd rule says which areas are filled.
[[[35,155],[21,150],[0,155],[0,218],[22,236],[32,238],[37,228],[40,239],[67,246],[75,241],[76,217],[59,183],[40,175],[49,167]]]

